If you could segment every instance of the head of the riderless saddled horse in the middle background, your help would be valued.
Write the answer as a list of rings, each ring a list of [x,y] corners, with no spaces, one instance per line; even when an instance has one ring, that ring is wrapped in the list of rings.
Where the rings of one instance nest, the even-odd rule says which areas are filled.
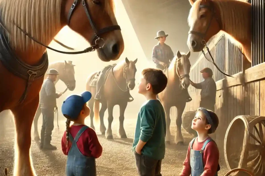
[[[136,62],[137,58],[134,61],[128,60],[128,58],[125,58],[125,67],[123,68],[123,77],[127,81],[127,86],[130,90],[134,89],[135,87],[135,73],[136,73]]]

